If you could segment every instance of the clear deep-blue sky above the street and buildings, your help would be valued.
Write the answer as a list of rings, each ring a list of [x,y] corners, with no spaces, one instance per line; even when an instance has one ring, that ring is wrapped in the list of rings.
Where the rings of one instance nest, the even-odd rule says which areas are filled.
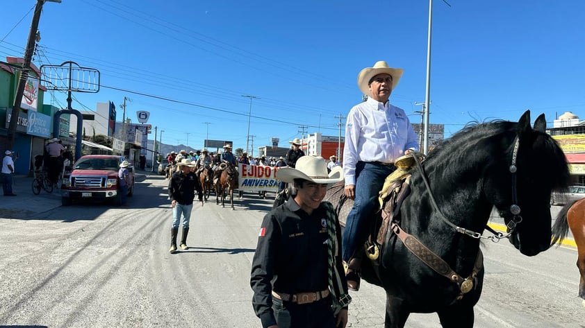
[[[0,58],[22,57],[36,1],[3,2]],[[566,111],[583,119],[585,1],[448,2],[434,1],[431,48],[430,123],[445,137],[527,109],[549,126]],[[126,96],[126,116],[151,112],[165,144],[245,148],[250,117],[254,148],[288,146],[303,131],[337,136],[336,116],[361,101],[359,71],[377,60],[404,69],[390,102],[419,123],[428,13],[427,0],[63,0],[44,4],[33,62],[99,69],[99,93],[74,94],[73,107]],[[242,95],[258,97],[250,116]]]

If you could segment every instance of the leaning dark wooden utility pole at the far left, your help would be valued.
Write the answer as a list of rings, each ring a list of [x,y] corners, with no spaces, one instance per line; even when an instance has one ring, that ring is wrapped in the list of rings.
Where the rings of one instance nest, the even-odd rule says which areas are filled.
[[[51,2],[61,2],[60,0],[47,0]],[[18,79],[16,94],[14,98],[13,111],[10,115],[10,124],[8,125],[8,144],[6,149],[12,149],[16,139],[16,128],[18,123],[18,115],[20,113],[20,103],[22,103],[22,96],[24,94],[24,87],[28,80],[28,71],[31,69],[31,60],[33,60],[33,53],[35,51],[35,40],[37,37],[37,30],[39,27],[40,13],[42,12],[42,5],[45,0],[37,0],[35,6],[35,13],[31,23],[31,31],[28,31],[28,40],[26,41],[26,49],[24,49],[24,60],[22,62],[22,70]],[[53,131],[53,137],[58,137],[59,131]]]

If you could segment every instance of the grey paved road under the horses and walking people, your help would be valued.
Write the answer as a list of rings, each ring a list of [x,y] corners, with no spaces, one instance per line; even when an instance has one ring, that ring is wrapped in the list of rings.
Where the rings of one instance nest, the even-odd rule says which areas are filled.
[[[235,211],[196,205],[190,248],[172,255],[165,180],[138,181],[129,208],[60,207],[47,195],[42,210],[0,212],[0,325],[261,327],[249,270],[270,200],[246,194]],[[523,257],[502,241],[484,254],[475,327],[584,327],[575,250]],[[352,296],[349,327],[384,327],[381,288],[363,284]],[[413,314],[408,327],[440,325]]]

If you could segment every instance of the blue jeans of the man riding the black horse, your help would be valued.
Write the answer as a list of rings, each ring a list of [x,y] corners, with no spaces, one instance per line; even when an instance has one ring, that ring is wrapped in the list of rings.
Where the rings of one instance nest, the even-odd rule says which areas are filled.
[[[393,165],[373,162],[356,164],[356,199],[347,215],[343,232],[343,261],[354,257],[354,252],[361,248],[368,237],[368,220],[377,206],[379,191],[384,186],[384,179],[396,169]]]

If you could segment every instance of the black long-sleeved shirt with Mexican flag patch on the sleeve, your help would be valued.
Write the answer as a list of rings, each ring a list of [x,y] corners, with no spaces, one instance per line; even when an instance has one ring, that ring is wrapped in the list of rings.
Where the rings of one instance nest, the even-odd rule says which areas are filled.
[[[295,294],[323,291],[329,287],[325,211],[320,205],[308,215],[295,200],[290,200],[264,217],[250,277],[250,286],[254,290],[252,306],[263,327],[276,325],[272,311],[273,290]],[[341,245],[338,221],[336,232],[338,245]],[[336,267],[343,275],[341,247],[336,255]],[[347,294],[345,279],[343,290]]]

